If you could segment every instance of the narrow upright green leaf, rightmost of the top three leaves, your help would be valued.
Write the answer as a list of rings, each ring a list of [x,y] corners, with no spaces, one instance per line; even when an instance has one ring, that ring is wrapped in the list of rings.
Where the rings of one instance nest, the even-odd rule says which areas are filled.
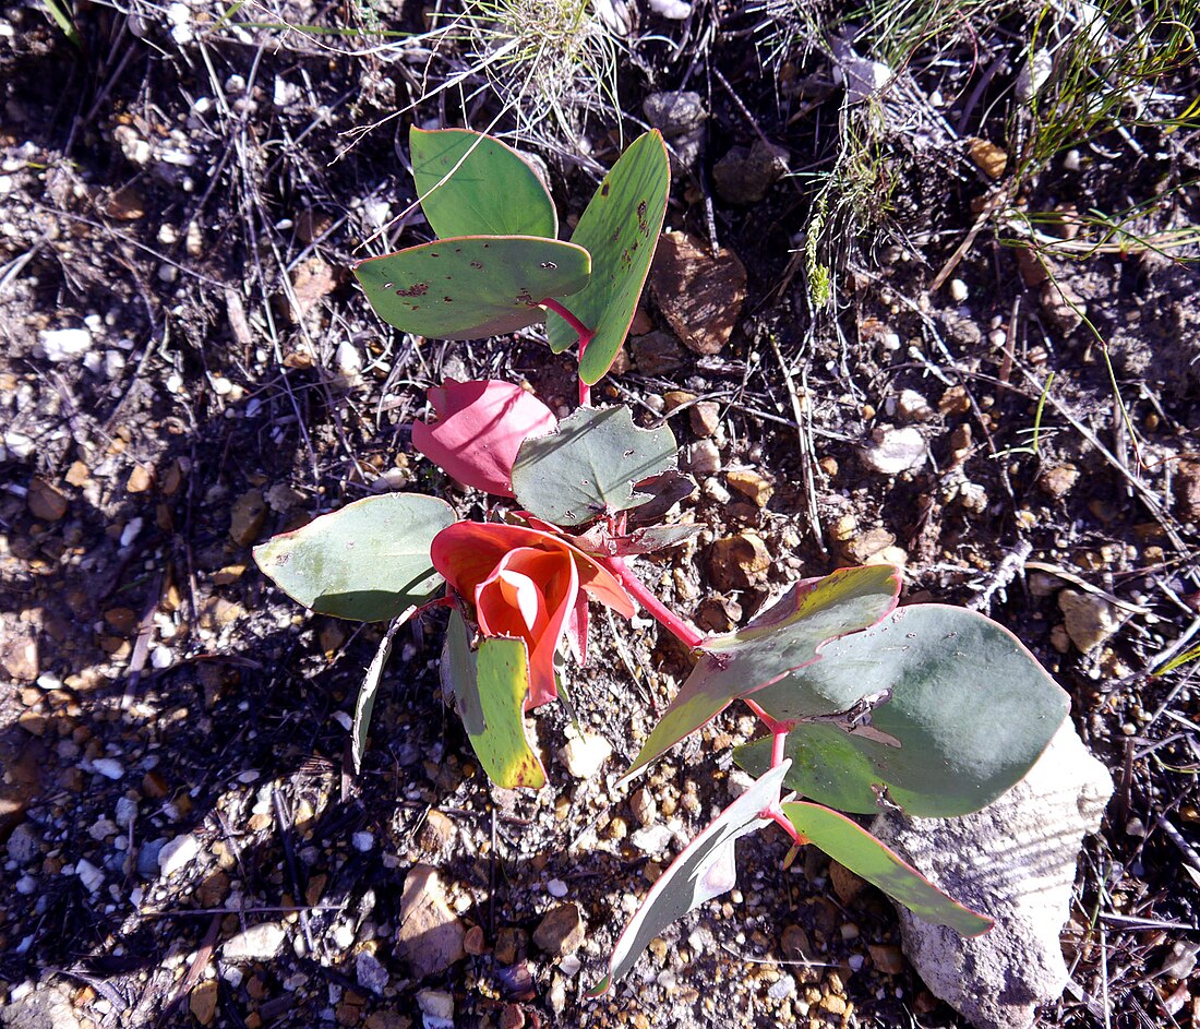
[[[571,313],[595,333],[580,359],[580,378],[589,385],[608,371],[629,333],[670,192],[671,163],[662,136],[654,130],[620,155],[571,234],[571,241],[592,255],[594,268],[587,289],[570,303]],[[546,318],[546,334],[554,353],[577,339],[554,313]]]

